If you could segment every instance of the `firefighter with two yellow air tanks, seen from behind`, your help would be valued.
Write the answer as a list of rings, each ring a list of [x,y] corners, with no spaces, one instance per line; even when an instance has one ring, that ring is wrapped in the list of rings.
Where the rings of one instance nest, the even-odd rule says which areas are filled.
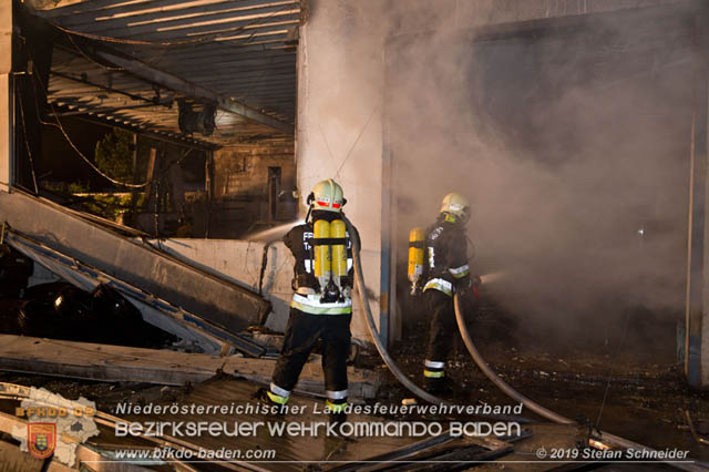
[[[353,286],[350,238],[359,238],[346,230],[341,215],[346,203],[333,179],[318,183],[308,196],[306,223],[284,237],[296,259],[295,293],[282,350],[263,396],[270,404],[285,406],[310,351],[321,340],[326,406],[333,421],[343,421],[347,406]]]

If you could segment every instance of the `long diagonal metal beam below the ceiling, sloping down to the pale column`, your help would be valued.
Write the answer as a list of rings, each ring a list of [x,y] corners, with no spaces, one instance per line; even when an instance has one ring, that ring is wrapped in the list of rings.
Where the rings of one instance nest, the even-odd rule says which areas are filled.
[[[105,51],[96,51],[96,54],[99,54],[104,60],[119,65],[126,71],[131,71],[135,75],[152,83],[162,85],[175,92],[184,93],[188,96],[208,100],[216,103],[217,106],[219,106],[224,111],[244,116],[256,123],[265,124],[284,133],[294,134],[294,126],[290,123],[276,120],[273,116],[269,116],[239,102],[230,100],[208,89],[187,82],[186,80],[181,79],[176,75],[158,71],[145,64],[144,62],[137,61],[135,59],[122,58]]]

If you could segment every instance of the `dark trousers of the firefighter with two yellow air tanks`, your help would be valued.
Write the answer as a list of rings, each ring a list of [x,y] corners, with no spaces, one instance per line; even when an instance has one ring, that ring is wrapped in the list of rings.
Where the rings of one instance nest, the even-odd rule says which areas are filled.
[[[270,384],[271,400],[288,401],[302,366],[316,342],[322,340],[322,370],[327,406],[331,410],[347,404],[347,358],[350,353],[352,314],[314,315],[290,308],[284,347]]]

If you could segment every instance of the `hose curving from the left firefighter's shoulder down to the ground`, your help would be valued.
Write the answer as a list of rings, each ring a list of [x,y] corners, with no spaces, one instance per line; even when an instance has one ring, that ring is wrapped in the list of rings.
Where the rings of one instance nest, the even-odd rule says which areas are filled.
[[[381,342],[381,339],[379,338],[379,332],[374,327],[374,317],[372,316],[371,308],[369,307],[369,297],[367,296],[367,288],[364,287],[364,277],[362,275],[362,261],[360,260],[360,257],[359,257],[360,255],[359,238],[354,236],[357,234],[356,233],[357,230],[352,226],[352,223],[345,215],[342,215],[342,220],[347,225],[347,230],[349,232],[349,234],[352,235],[351,237],[352,259],[353,259],[353,268],[354,268],[354,280],[357,281],[357,291],[359,293],[359,301],[362,305],[362,308],[364,309],[364,314],[367,315],[366,318],[367,318],[367,328],[369,329],[369,335],[372,337],[372,340],[374,341],[374,346],[377,347],[377,351],[379,351],[379,356],[381,356],[384,363],[387,365],[391,373],[394,374],[397,380],[399,380],[401,384],[404,386],[411,393],[433,404],[450,406],[451,403],[449,403],[448,401],[432,396],[431,393],[427,392],[425,390],[421,389],[415,383],[413,383],[411,380],[409,380],[409,378],[401,370],[399,370],[399,367],[397,367],[393,359],[391,359],[391,356],[389,356],[389,352],[387,352],[387,348],[384,348],[384,345]]]

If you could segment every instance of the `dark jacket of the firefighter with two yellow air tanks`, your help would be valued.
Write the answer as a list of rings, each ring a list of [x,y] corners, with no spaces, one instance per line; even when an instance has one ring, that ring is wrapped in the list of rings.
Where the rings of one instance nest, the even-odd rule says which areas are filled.
[[[337,215],[330,213],[318,216],[314,215],[312,220],[327,219],[331,222],[333,219],[339,219],[336,216]],[[292,296],[290,307],[312,315],[351,314],[351,289],[354,286],[351,235],[349,234],[349,230],[346,232],[345,238],[347,248],[348,275],[343,284],[343,287],[347,287],[347,290],[343,290],[345,294],[342,294],[343,300],[332,302],[320,301],[322,289],[325,287],[320,287],[320,284],[315,276],[315,252],[312,246],[312,239],[315,235],[312,232],[312,220],[302,225],[295,226],[286,234],[286,236],[284,236],[284,243],[286,244],[286,247],[290,249],[290,253],[296,259],[294,265],[292,278],[292,289],[295,290],[295,294]],[[358,242],[360,240],[357,229],[354,229],[353,236],[357,237]]]

